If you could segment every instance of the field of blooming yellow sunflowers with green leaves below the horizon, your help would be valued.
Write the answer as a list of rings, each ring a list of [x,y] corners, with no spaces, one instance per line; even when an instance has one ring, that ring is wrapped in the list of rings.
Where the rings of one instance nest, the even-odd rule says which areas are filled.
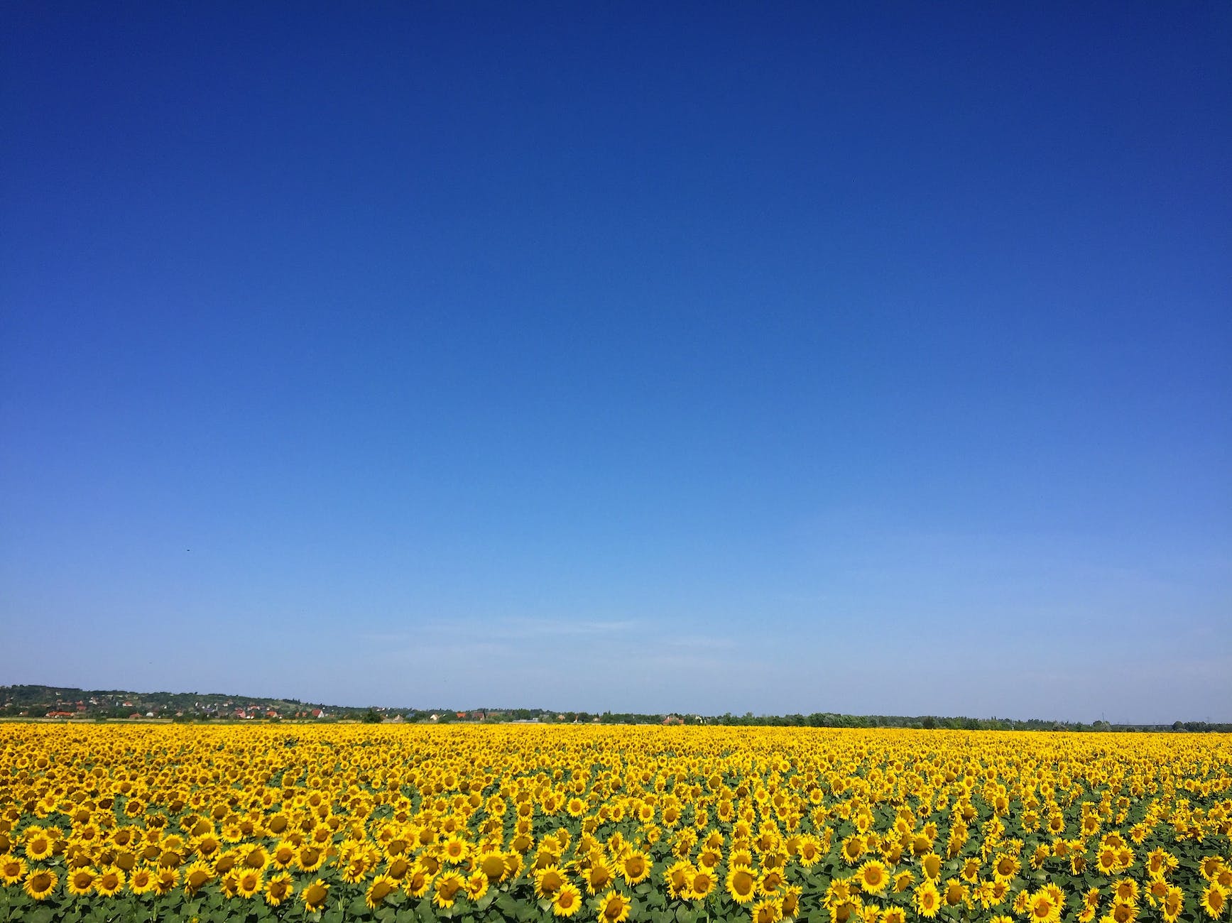
[[[1232,737],[0,725],[0,921],[1227,919]]]

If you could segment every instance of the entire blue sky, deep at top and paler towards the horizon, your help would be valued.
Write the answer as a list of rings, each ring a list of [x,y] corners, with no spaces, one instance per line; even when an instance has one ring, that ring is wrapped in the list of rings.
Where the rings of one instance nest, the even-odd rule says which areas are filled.
[[[1228,4],[0,33],[0,681],[1232,718]]]

